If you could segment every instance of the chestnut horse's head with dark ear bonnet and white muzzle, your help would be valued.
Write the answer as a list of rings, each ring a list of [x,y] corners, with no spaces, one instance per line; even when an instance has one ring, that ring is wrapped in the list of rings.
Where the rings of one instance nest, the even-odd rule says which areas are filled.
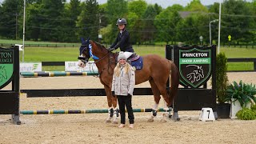
[[[85,67],[86,62],[89,61],[90,58],[90,50],[89,50],[89,45],[90,45],[90,39],[88,38],[87,40],[82,40],[82,45],[79,48],[80,54],[78,57],[78,66],[80,67]]]

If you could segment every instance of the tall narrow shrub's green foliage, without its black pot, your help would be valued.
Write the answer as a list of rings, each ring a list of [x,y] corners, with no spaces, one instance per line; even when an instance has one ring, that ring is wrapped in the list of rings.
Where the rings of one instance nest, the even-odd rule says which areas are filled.
[[[227,58],[224,53],[220,53],[216,57],[216,91],[217,100],[220,103],[226,102],[226,87],[228,86]]]

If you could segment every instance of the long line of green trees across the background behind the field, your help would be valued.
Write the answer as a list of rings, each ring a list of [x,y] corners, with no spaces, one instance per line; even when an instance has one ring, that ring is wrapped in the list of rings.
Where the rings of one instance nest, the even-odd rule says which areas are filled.
[[[203,6],[193,0],[187,6],[165,9],[144,0],[26,0],[26,40],[79,42],[81,37],[111,43],[118,34],[118,18],[126,18],[131,42],[209,43],[218,41],[219,4]],[[5,0],[0,5],[0,38],[21,39],[23,1]],[[222,2],[221,42],[256,43],[256,0]],[[98,36],[102,35],[99,39]]]

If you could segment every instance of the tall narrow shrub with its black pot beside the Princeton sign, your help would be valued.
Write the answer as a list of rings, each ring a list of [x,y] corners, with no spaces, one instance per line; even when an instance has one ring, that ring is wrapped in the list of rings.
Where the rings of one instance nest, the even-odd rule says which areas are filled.
[[[216,95],[218,118],[230,118],[230,103],[226,98],[226,88],[228,86],[227,78],[227,58],[224,53],[216,57]]]

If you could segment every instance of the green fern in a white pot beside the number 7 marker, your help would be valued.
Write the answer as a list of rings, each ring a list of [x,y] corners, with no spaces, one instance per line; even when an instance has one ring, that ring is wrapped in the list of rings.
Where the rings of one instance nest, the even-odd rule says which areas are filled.
[[[256,88],[252,83],[233,82],[227,87],[226,96],[226,100],[231,102],[230,118],[237,118],[235,114],[238,110],[243,107],[250,109],[251,103],[256,102]]]

